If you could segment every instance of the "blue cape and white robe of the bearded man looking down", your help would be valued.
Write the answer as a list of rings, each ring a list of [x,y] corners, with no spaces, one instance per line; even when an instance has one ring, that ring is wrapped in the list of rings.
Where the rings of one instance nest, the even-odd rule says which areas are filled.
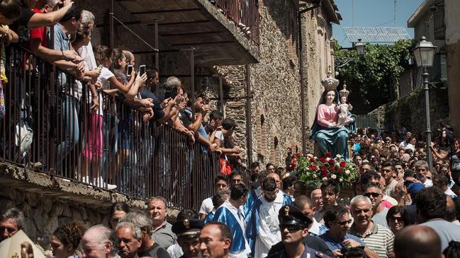
[[[265,199],[262,200],[262,198],[265,198],[265,197],[262,195],[254,203],[254,207],[252,208],[251,216],[249,218],[249,223],[247,224],[247,228],[246,228],[247,241],[249,242],[249,247],[251,247],[252,257],[256,257],[256,258],[258,258],[257,256],[260,256],[259,252],[261,251],[261,248],[256,245],[256,243],[258,242],[257,237],[260,234],[261,227],[264,227],[266,230],[269,230],[268,228],[270,227],[276,228],[279,231],[279,221],[278,221],[279,209],[281,209],[282,206],[287,205],[287,204],[293,205],[293,201],[291,197],[288,196],[288,194],[285,194],[284,192],[279,191],[278,194],[276,194],[276,199],[272,202],[272,204],[274,204],[274,206],[276,207],[276,211],[273,211],[273,213],[271,214],[271,216],[274,216],[274,217],[271,218],[271,220],[268,218],[264,218],[264,222],[262,223],[266,224],[266,222],[268,221],[278,221],[278,222],[273,222],[273,224],[276,224],[276,225],[261,225],[262,224],[261,218],[259,217],[260,212],[261,212],[261,207],[262,205],[267,203],[267,201],[265,201]],[[273,238],[276,238],[276,235],[273,235]],[[281,241],[281,235],[280,235],[279,240],[277,241],[274,240],[275,244],[276,242],[279,242],[279,241]],[[258,245],[261,245],[260,241]],[[264,248],[262,247],[262,251],[263,249]],[[268,250],[267,250],[267,254],[268,254]],[[264,254],[264,255],[267,255],[267,254]]]

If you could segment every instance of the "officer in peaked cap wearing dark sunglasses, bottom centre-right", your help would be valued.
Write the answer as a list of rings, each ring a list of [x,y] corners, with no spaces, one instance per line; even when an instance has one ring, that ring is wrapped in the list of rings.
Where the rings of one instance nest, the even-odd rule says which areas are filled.
[[[315,258],[328,257],[322,252],[311,249],[303,242],[308,235],[310,218],[294,206],[285,205],[279,210],[279,228],[281,230],[281,242],[284,248],[269,255],[267,258]]]

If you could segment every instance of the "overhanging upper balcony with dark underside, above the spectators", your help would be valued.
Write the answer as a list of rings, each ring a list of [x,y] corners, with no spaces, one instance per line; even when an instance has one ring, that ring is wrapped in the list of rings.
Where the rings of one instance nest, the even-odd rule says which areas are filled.
[[[215,2],[213,5],[208,0],[117,0],[115,16],[128,11],[138,23],[157,23],[159,38],[167,45],[165,50],[195,47],[195,63],[202,66],[257,63],[257,1]]]

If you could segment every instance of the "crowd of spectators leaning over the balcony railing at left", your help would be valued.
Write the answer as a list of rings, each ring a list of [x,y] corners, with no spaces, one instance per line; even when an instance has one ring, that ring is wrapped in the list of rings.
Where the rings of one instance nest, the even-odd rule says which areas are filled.
[[[6,47],[2,60],[17,59],[14,61],[21,69],[12,74],[31,77],[20,79],[19,88],[13,89],[6,78],[13,61],[1,62],[0,90],[8,89],[11,94],[0,94],[0,110],[13,121],[18,115],[21,125],[11,124],[13,135],[22,137],[16,145],[23,160],[13,161],[26,163],[32,143],[49,136],[55,141],[44,143],[56,142],[57,146],[45,146],[47,151],[39,151],[33,160],[40,161],[44,170],[123,192],[127,186],[120,185],[120,178],[133,180],[134,176],[125,174],[135,165],[148,170],[154,151],[162,148],[158,143],[155,146],[155,127],[162,124],[185,134],[188,142],[184,145],[199,143],[204,153],[219,153],[224,173],[230,174],[232,167],[241,163],[242,153],[234,141],[235,121],[211,110],[205,95],[196,93],[191,99],[179,78],[171,76],[159,83],[157,69],[136,66],[128,49],[92,46],[95,16],[90,11],[81,11],[71,0],[6,0],[1,1],[0,16],[1,44]],[[14,51],[21,54],[11,54]],[[48,97],[53,88],[49,84],[52,80],[45,78],[49,73],[36,59],[57,67],[55,86],[60,93],[56,105],[51,105],[53,99]],[[48,84],[37,88],[40,83]],[[8,110],[10,107],[16,110]],[[45,113],[52,121],[39,121]],[[54,125],[60,131],[51,128]],[[142,132],[151,133],[142,134],[140,141],[137,135],[141,126],[150,127]],[[43,127],[47,129],[43,131]],[[140,152],[142,158],[138,158]],[[76,168],[77,164],[81,165]]]

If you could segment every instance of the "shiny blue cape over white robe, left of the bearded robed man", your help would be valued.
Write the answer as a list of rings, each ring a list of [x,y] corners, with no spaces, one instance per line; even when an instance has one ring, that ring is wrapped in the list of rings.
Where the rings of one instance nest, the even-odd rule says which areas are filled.
[[[217,211],[215,211],[213,221],[218,221],[228,225],[232,230],[233,241],[230,245],[230,257],[242,258],[247,257],[251,252],[245,235],[245,218],[240,209],[225,201]]]

